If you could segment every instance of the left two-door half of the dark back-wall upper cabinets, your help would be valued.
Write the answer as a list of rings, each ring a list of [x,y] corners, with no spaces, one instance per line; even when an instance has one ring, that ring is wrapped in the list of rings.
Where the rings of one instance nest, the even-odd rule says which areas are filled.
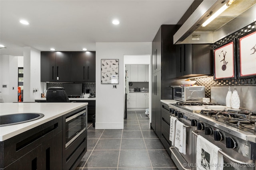
[[[41,52],[41,82],[70,82],[71,52]]]

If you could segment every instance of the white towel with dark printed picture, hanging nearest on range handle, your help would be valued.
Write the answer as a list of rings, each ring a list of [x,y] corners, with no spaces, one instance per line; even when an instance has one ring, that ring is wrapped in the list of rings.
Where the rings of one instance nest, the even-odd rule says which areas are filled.
[[[222,170],[223,156],[218,152],[219,147],[209,142],[201,135],[196,141],[196,164],[197,170]]]

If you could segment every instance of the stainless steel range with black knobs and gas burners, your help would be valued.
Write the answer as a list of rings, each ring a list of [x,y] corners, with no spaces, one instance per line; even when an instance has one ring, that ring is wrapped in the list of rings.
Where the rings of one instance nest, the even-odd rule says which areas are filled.
[[[196,139],[201,135],[221,149],[223,169],[255,170],[256,115],[250,110],[203,102],[177,102],[169,107],[172,115],[187,127],[186,154],[170,147],[179,169],[196,169]]]

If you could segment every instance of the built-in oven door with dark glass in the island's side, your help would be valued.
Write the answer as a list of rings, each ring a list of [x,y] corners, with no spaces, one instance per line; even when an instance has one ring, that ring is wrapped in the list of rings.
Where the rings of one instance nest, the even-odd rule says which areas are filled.
[[[86,110],[66,117],[66,148],[86,130]]]

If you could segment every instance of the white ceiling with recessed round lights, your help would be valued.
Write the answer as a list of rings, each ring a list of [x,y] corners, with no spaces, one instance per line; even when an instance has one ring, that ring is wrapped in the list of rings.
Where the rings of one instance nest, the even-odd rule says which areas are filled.
[[[1,55],[95,51],[96,42],[152,42],[162,24],[176,24],[193,0],[0,0]],[[25,19],[30,25],[22,25]],[[112,20],[120,20],[113,25]]]

